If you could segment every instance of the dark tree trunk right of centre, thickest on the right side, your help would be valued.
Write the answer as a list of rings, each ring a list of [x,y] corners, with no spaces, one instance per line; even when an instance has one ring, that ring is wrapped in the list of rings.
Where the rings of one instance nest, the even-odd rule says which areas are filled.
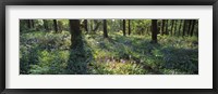
[[[157,19],[152,19],[152,27],[153,27],[153,32],[152,32],[152,43],[157,43]]]

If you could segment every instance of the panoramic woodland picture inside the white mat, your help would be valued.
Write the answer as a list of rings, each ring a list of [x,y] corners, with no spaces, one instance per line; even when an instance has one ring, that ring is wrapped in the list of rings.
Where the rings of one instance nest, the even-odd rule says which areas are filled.
[[[20,19],[20,75],[198,75],[198,19]]]

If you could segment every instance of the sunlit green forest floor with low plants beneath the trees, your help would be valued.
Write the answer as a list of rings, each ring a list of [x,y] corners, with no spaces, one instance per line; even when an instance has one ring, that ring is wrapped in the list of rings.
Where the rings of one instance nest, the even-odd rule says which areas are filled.
[[[197,75],[197,37],[83,33],[83,48],[71,50],[71,36],[35,31],[20,36],[21,73],[36,75]],[[70,67],[70,68],[69,68]],[[70,69],[70,70],[69,70]]]

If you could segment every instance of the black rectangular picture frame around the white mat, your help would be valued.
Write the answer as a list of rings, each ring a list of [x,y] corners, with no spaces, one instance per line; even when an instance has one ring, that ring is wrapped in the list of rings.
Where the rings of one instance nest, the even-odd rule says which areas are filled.
[[[217,44],[218,0],[2,0],[0,5],[0,93],[1,94],[218,94]],[[5,89],[7,5],[213,5],[213,89]]]

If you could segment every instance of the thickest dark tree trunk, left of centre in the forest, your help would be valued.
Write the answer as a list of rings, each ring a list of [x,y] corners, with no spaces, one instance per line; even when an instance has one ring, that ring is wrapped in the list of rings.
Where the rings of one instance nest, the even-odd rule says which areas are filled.
[[[80,19],[69,19],[71,32],[71,49],[82,48],[82,32],[80,29]]]

